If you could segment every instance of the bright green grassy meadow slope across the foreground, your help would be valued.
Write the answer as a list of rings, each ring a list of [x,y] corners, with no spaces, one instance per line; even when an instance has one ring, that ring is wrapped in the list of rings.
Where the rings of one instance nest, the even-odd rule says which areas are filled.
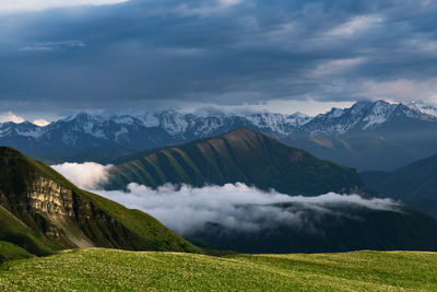
[[[436,291],[437,254],[235,255],[78,249],[8,262],[1,291]]]

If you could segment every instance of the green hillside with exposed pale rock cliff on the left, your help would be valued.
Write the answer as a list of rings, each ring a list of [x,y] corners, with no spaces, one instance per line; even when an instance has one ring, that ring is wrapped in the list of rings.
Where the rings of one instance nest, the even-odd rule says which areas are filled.
[[[83,191],[5,147],[0,148],[0,241],[15,245],[7,248],[11,254],[24,248],[37,256],[93,246],[200,252],[154,218]]]

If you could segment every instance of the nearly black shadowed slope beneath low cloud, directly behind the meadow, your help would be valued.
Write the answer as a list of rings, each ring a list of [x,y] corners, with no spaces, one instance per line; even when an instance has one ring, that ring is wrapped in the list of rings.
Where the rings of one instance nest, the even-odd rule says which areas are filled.
[[[298,203],[271,207],[296,214],[300,222],[284,220],[256,231],[209,223],[188,237],[193,243],[248,254],[437,250],[437,221],[404,206],[375,210],[353,203],[321,205],[322,212]]]

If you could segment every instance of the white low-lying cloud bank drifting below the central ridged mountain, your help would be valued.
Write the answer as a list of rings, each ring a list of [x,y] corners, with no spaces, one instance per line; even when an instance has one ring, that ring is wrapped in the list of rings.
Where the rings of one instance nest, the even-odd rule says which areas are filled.
[[[52,166],[79,187],[131,209],[142,210],[175,232],[189,236],[213,223],[227,230],[258,232],[277,225],[316,231],[326,215],[359,220],[357,209],[398,211],[390,199],[329,192],[317,197],[263,191],[243,183],[191,187],[164,185],[153,189],[129,184],[126,190],[104,190],[111,165],[86,162]]]

